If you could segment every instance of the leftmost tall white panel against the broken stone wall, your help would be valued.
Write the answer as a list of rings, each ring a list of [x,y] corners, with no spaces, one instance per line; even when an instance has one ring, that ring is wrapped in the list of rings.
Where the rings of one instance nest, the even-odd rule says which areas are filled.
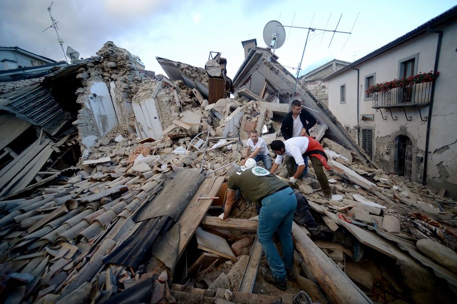
[[[113,127],[118,125],[113,102],[108,87],[104,82],[94,82],[91,85],[89,106],[93,113],[93,118],[97,124],[100,136],[105,135]]]

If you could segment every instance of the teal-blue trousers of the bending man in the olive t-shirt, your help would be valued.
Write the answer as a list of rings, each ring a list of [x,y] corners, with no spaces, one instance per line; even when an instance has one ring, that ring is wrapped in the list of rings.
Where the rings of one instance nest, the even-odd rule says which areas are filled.
[[[297,208],[297,198],[290,187],[262,199],[257,236],[273,276],[279,281],[287,279],[286,268],[291,270],[294,267],[294,245],[290,231],[295,208]],[[281,241],[284,261],[281,260],[273,243],[273,234],[276,230]]]

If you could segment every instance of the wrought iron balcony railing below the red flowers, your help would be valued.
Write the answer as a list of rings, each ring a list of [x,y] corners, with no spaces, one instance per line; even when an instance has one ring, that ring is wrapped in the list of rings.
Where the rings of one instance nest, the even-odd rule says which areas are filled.
[[[430,103],[431,82],[412,84],[404,88],[372,93],[372,108],[420,107]]]

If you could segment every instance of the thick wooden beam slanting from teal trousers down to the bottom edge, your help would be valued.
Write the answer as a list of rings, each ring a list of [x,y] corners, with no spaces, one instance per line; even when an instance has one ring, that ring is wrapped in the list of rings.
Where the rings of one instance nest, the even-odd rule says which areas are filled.
[[[372,303],[295,222],[292,224],[292,237],[306,266],[332,303]]]

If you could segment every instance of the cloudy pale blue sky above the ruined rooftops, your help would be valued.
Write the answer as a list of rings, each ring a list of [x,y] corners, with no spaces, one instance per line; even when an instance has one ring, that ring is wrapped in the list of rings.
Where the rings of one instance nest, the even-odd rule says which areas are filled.
[[[0,46],[18,46],[56,61],[64,60],[47,7],[52,0],[1,0]],[[51,13],[59,21],[63,47],[80,57],[95,55],[108,41],[138,55],[146,69],[164,73],[155,57],[204,67],[210,51],[227,58],[233,77],[244,60],[241,41],[263,41],[264,26],[335,29],[352,34],[311,32],[303,73],[332,59],[357,60],[415,29],[456,4],[455,0],[55,0]],[[357,19],[357,21],[356,21]],[[43,31],[45,30],[45,31]],[[287,28],[279,62],[297,67],[307,30]],[[346,41],[347,40],[347,41]],[[289,68],[296,74],[296,70]],[[302,73],[302,74],[303,74]]]

